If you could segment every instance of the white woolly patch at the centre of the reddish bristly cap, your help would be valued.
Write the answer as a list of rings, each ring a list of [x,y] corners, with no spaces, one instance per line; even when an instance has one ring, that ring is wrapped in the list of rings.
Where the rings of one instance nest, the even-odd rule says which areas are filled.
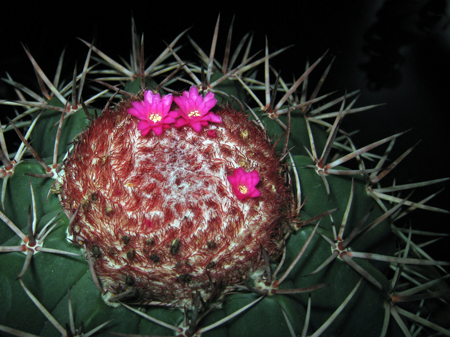
[[[220,126],[214,126],[214,129],[220,129]],[[163,131],[163,137],[141,137],[140,131],[134,130],[131,135],[131,146],[134,160],[134,167],[129,177],[141,173],[142,166],[151,163],[154,171],[162,176],[161,179],[155,178],[155,175],[150,172],[143,176],[148,184],[154,184],[157,189],[164,191],[163,202],[165,207],[170,207],[175,214],[175,220],[170,223],[171,227],[180,228],[182,221],[186,217],[191,217],[193,213],[189,209],[183,208],[182,214],[175,209],[176,204],[195,205],[195,207],[202,207],[202,214],[204,218],[203,224],[198,226],[198,230],[204,230],[207,222],[216,216],[216,210],[210,209],[207,206],[199,203],[198,195],[201,198],[210,198],[218,205],[226,207],[230,202],[234,201],[235,197],[231,189],[231,185],[227,181],[226,169],[227,167],[238,168],[240,164],[236,161],[238,156],[232,155],[224,158],[220,153],[220,145],[226,144],[227,147],[233,148],[237,153],[242,153],[243,149],[237,143],[230,143],[229,139],[226,143],[220,144],[217,138],[208,138],[204,134],[196,133],[193,130],[187,130],[184,139],[180,139],[180,135],[175,128],[170,128]],[[198,151],[199,146],[202,148],[210,147],[207,156]],[[155,161],[156,154],[143,154],[143,150],[154,149],[157,152],[160,160]],[[242,157],[244,157],[242,155]],[[191,158],[197,168],[193,168],[191,163],[187,160]],[[211,162],[216,161],[223,163],[217,170],[211,170]],[[121,162],[112,162],[112,166],[119,166]],[[126,181],[123,185],[127,186]],[[225,196],[220,196],[217,192],[217,185],[221,185],[226,190]],[[134,186],[127,186],[132,191],[136,188]],[[139,191],[137,191],[139,192]],[[145,197],[151,197],[150,192],[141,192]],[[237,203],[240,211],[246,214],[249,206],[246,203]],[[122,201],[122,206],[126,209],[125,203]],[[261,213],[262,215],[262,213]],[[145,213],[145,218],[152,219],[154,217],[162,216],[159,209],[152,210]],[[223,226],[227,223],[223,222]]]

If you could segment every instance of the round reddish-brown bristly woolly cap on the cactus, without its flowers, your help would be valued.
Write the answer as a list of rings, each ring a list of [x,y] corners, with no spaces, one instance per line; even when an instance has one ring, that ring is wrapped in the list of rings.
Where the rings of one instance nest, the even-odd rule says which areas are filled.
[[[265,132],[241,112],[200,132],[170,127],[141,136],[131,101],[83,132],[64,168],[62,204],[78,215],[73,242],[87,247],[105,291],[137,303],[191,305],[262,273],[261,247],[282,248],[290,197]],[[238,200],[227,176],[257,171],[261,195]]]

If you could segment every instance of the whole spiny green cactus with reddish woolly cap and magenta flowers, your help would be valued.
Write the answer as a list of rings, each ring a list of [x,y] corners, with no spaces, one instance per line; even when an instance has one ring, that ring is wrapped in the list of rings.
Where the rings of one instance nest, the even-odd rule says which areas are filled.
[[[450,336],[423,306],[445,302],[449,263],[399,220],[448,212],[398,194],[447,178],[381,187],[404,132],[356,148],[342,120],[376,105],[322,93],[330,64],[308,88],[325,55],[292,83],[269,66],[284,49],[249,56],[248,36],[220,63],[218,23],[209,52],[190,40],[199,64],[185,31],[145,63],[134,28],[125,65],[81,40],[65,86],[25,48],[44,90],[8,78],[19,100],[1,101],[25,110],[1,129],[0,331]]]

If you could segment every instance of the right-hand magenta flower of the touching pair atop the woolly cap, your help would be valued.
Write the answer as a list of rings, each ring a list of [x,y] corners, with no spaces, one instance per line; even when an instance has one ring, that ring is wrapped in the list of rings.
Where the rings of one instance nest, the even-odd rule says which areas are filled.
[[[183,91],[182,96],[173,97],[179,106],[177,111],[181,118],[175,122],[175,127],[190,125],[195,132],[200,132],[201,126],[208,125],[208,122],[221,123],[219,116],[209,110],[217,103],[212,92],[208,92],[204,97],[198,94],[195,86],[191,86],[189,92]]]

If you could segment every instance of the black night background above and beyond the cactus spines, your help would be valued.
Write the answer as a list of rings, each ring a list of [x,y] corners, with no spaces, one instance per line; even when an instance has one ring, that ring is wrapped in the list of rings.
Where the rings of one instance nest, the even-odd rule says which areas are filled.
[[[3,1],[4,2],[4,1]],[[63,76],[71,76],[74,61],[82,67],[87,47],[76,37],[95,45],[119,61],[118,55],[129,59],[130,17],[134,16],[138,32],[145,36],[145,56],[154,57],[164,48],[162,40],[171,41],[180,31],[191,27],[188,34],[209,49],[212,32],[220,11],[218,55],[223,55],[228,25],[235,14],[233,45],[248,31],[254,31],[252,52],[264,47],[267,36],[270,51],[294,44],[275,57],[272,64],[284,78],[298,77],[309,57],[314,61],[329,50],[326,63],[336,56],[322,94],[328,91],[362,89],[357,106],[386,103],[373,110],[346,116],[342,128],[358,129],[353,137],[362,147],[393,133],[412,128],[401,136],[391,158],[403,153],[421,140],[413,152],[395,168],[389,179],[396,184],[443,178],[449,176],[448,134],[450,90],[450,9],[445,0],[328,0],[298,1],[295,6],[245,6],[229,1],[201,4],[193,1],[147,1],[148,4],[94,2],[64,3],[53,7],[42,2],[33,6],[2,3],[0,11],[0,76],[8,71],[14,80],[33,87],[35,76],[23,51],[24,43],[50,78],[53,77],[60,52],[66,47]],[[192,50],[183,38],[186,51]],[[180,51],[182,54],[182,51]],[[192,55],[186,52],[186,55]],[[192,57],[192,56],[190,56]],[[197,61],[197,59],[191,59]],[[15,97],[14,92],[0,83],[0,98]],[[1,121],[10,109],[0,106]],[[382,150],[384,150],[383,147]],[[383,181],[386,186],[388,181]],[[390,180],[391,181],[391,180]],[[411,199],[425,196],[449,183],[417,189]],[[450,209],[448,189],[428,204]],[[449,232],[448,215],[416,210],[397,226]],[[434,257],[448,260],[443,242],[435,246]]]

